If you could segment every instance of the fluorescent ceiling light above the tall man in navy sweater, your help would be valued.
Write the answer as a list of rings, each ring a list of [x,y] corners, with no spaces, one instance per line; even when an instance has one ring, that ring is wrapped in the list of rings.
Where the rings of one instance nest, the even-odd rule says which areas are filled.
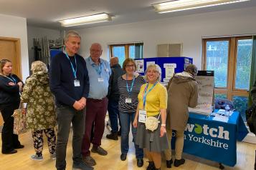
[[[59,22],[62,24],[62,26],[79,26],[84,24],[94,24],[105,21],[111,21],[111,16],[103,13],[90,16],[82,16],[74,19],[65,19]]]

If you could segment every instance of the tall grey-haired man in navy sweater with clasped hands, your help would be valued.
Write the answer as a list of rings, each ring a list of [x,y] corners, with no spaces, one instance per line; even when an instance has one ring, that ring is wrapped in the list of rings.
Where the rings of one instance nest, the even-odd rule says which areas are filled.
[[[85,106],[89,94],[89,77],[85,59],[77,54],[81,37],[75,31],[68,31],[65,37],[65,51],[52,58],[50,89],[57,106],[56,168],[66,169],[67,141],[70,124],[73,126],[73,169],[93,169],[82,161],[81,145],[85,131]]]

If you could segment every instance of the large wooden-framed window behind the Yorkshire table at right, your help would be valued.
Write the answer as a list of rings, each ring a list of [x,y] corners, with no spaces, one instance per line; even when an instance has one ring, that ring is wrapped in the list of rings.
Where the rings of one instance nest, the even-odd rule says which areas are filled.
[[[244,120],[251,61],[252,36],[203,39],[203,66],[214,70],[215,97],[233,101]]]

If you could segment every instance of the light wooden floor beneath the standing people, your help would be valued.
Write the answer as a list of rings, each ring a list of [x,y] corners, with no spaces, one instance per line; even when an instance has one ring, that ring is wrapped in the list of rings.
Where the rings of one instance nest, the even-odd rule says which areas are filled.
[[[119,169],[146,169],[148,163],[147,159],[144,158],[144,166],[138,168],[136,166],[135,151],[133,143],[130,141],[130,150],[126,161],[120,161],[120,137],[118,141],[108,140],[105,135],[109,133],[109,130],[105,128],[105,133],[102,140],[102,146],[108,151],[107,156],[100,156],[92,153],[91,156],[96,160],[97,164],[95,169],[97,170],[119,170]],[[43,161],[33,161],[30,156],[34,154],[33,142],[31,132],[22,134],[19,136],[24,149],[19,149],[18,153],[11,155],[0,154],[0,169],[1,170],[51,170],[54,169],[55,161],[49,158],[49,151],[47,148],[47,142],[44,142]],[[131,139],[131,138],[130,138]],[[47,141],[44,139],[44,141]],[[72,169],[72,131],[70,131],[70,139],[67,146],[67,170]],[[0,141],[1,146],[1,141]],[[237,142],[237,164],[234,167],[225,166],[225,169],[240,169],[240,170],[252,170],[254,169],[255,160],[255,144],[248,144],[245,142]],[[212,161],[202,160],[195,158],[194,156],[184,155],[186,163],[179,168],[172,167],[173,170],[214,170],[219,169],[218,164]],[[161,169],[167,169],[165,161]],[[170,169],[170,170],[171,170]]]

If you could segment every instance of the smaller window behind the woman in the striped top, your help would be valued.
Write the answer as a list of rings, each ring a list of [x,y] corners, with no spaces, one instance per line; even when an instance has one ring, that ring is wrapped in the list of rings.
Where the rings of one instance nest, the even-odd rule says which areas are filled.
[[[111,57],[118,57],[120,66],[123,65],[126,58],[142,59],[143,43],[110,45],[110,55]]]

